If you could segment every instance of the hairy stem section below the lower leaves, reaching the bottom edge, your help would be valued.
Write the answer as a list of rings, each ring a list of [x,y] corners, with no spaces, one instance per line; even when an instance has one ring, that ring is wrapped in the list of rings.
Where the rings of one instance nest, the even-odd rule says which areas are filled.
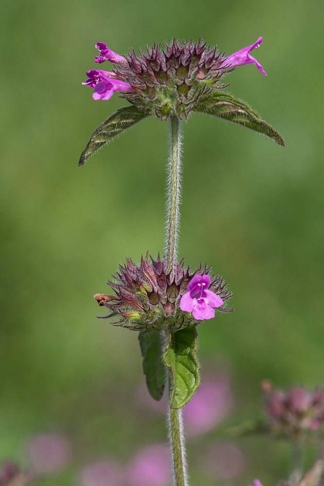
[[[169,397],[171,396],[169,390]],[[185,437],[182,424],[182,411],[168,406],[168,426],[171,446],[173,486],[188,486]]]

